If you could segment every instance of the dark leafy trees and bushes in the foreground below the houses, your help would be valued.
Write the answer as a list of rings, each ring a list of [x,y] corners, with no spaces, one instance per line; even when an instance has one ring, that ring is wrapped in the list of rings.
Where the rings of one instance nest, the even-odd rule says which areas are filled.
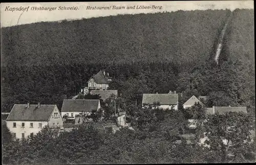
[[[198,107],[196,107],[198,108]],[[183,138],[186,119],[179,111],[138,109],[134,130],[122,128],[115,134],[101,132],[99,123],[82,124],[71,132],[58,133],[48,127],[23,140],[3,145],[4,164],[96,164],[96,163],[208,163],[255,161],[255,144],[249,140],[250,117],[242,113],[207,116],[206,129],[210,148]],[[144,111],[144,112],[143,112]],[[145,115],[144,113],[148,114]],[[234,120],[237,119],[237,120]],[[150,122],[152,121],[152,122]],[[223,124],[218,124],[222,122]],[[225,123],[225,124],[224,124]],[[235,126],[225,134],[222,126]],[[247,129],[245,129],[247,127]],[[200,129],[202,127],[199,127]],[[243,129],[243,130],[242,130]],[[233,146],[225,146],[224,138]],[[58,135],[58,136],[57,136]],[[221,136],[218,136],[221,135]],[[254,141],[255,142],[255,141]],[[228,154],[236,156],[228,156]],[[224,154],[224,155],[223,155]]]

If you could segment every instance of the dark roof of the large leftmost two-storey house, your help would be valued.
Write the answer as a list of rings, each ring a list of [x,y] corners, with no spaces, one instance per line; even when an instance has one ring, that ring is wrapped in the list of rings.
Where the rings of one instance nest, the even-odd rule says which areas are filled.
[[[7,117],[7,121],[46,121],[52,114],[56,105],[15,104]]]

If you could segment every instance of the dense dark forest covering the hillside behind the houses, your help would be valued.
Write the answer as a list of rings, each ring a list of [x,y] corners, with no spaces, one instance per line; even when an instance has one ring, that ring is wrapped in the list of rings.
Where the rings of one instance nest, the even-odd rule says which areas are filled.
[[[227,19],[223,50],[214,61]],[[39,22],[1,29],[2,111],[57,104],[100,69],[134,104],[142,93],[209,96],[255,114],[253,10],[176,11]]]

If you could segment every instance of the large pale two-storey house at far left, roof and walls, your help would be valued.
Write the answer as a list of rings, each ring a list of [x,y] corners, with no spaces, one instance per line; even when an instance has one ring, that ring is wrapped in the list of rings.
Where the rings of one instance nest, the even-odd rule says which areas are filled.
[[[57,105],[15,104],[6,119],[14,138],[26,138],[38,133],[45,126],[63,127]]]

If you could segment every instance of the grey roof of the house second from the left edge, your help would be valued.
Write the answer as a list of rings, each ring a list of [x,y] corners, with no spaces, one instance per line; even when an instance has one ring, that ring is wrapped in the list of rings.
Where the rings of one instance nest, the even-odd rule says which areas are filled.
[[[99,104],[99,100],[63,100],[61,112],[91,112]]]

